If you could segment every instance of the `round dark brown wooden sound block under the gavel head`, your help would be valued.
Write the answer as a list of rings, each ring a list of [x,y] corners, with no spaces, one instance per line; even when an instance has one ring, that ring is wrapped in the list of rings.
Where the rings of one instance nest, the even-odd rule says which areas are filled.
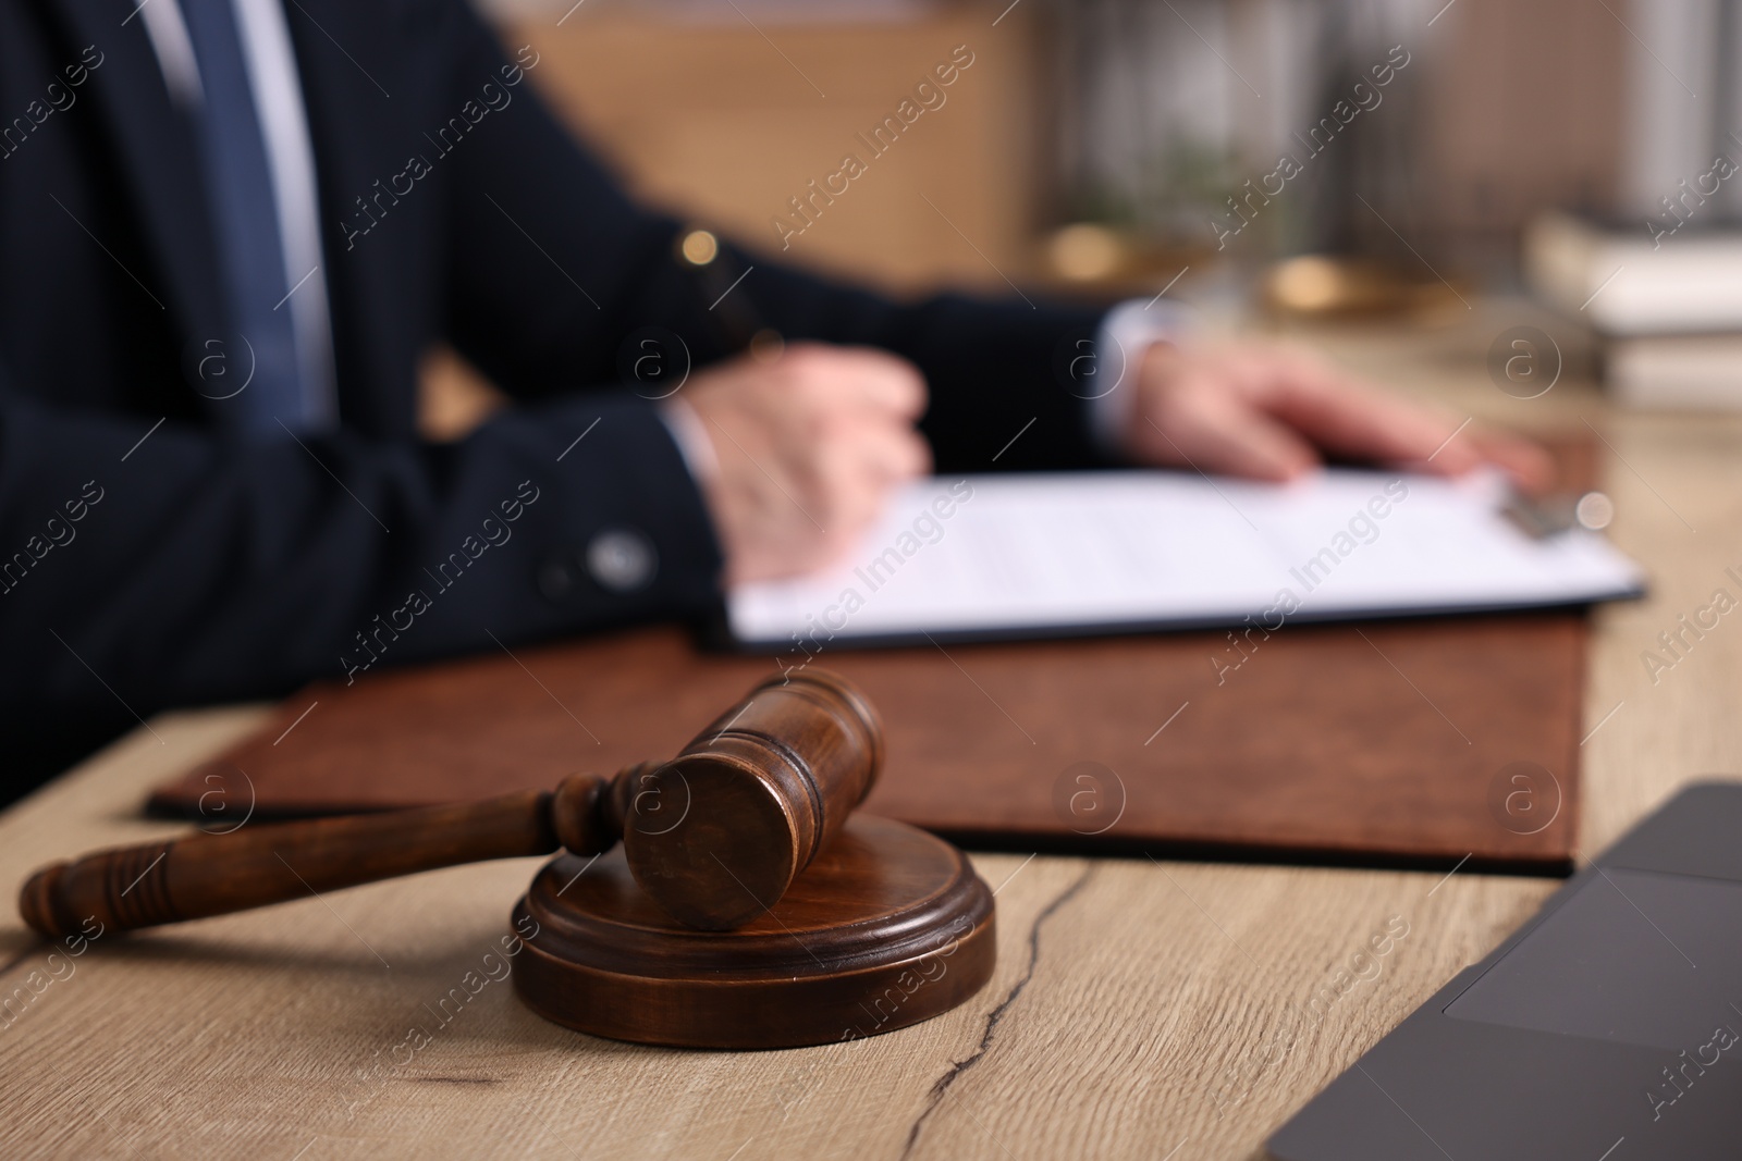
[[[533,926],[537,923],[537,928]],[[993,898],[967,856],[855,815],[772,910],[697,931],[634,881],[622,851],[563,855],[514,909],[514,971],[547,1020],[678,1048],[798,1048],[892,1032],[991,978]]]

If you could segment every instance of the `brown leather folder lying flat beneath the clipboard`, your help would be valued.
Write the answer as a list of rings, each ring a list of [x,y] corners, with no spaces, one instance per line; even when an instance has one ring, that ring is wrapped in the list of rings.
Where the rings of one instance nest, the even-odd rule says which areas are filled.
[[[1589,440],[1556,451],[1592,477]],[[1577,842],[1585,637],[1559,611],[812,663],[883,715],[866,809],[970,846],[1540,872]],[[552,787],[672,755],[803,660],[657,627],[321,682],[152,806],[230,825]]]

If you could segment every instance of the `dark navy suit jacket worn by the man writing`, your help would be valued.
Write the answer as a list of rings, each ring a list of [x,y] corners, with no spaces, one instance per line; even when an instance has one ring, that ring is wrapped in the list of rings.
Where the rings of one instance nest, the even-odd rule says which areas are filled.
[[[52,769],[73,735],[279,695],[366,656],[712,609],[707,512],[620,371],[641,327],[679,334],[697,366],[726,353],[671,259],[678,223],[631,204],[531,84],[507,84],[516,54],[463,0],[298,0],[343,425],[301,444],[223,435],[202,359],[226,320],[193,127],[134,3],[0,0],[10,769]],[[925,371],[941,472],[995,466],[1031,418],[998,468],[1094,460],[1059,352],[1097,312],[899,305],[739,261],[756,270],[735,294],[789,339],[869,343]],[[416,367],[442,339],[519,406],[432,446],[415,432]],[[578,566],[608,527],[652,543],[652,583],[611,592]]]

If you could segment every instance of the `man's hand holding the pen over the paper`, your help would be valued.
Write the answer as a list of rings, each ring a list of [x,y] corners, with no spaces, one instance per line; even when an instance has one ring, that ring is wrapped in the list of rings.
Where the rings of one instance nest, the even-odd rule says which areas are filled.
[[[700,484],[728,585],[833,564],[897,484],[932,468],[913,426],[925,379],[878,350],[798,343],[711,367],[683,397],[719,461]]]

